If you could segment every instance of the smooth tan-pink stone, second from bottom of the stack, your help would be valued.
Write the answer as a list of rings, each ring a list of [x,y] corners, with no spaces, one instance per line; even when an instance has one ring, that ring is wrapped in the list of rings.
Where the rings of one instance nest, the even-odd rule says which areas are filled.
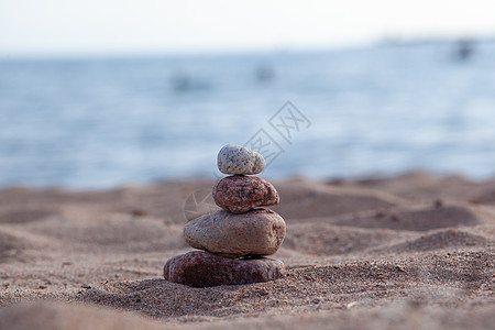
[[[234,215],[226,210],[186,223],[184,238],[195,249],[229,257],[271,255],[285,238],[285,221],[268,209]]]

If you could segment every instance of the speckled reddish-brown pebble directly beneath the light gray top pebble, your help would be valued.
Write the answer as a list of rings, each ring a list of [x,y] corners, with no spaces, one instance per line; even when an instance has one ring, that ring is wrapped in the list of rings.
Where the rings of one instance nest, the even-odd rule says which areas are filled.
[[[232,213],[244,213],[256,207],[279,202],[275,187],[255,176],[228,176],[213,187],[215,202]]]

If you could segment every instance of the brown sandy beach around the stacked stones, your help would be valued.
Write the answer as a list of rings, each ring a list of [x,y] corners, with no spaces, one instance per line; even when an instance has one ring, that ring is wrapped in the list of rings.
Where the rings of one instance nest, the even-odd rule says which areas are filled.
[[[0,190],[0,329],[493,329],[495,180],[275,182],[283,278],[168,283],[212,185]]]

